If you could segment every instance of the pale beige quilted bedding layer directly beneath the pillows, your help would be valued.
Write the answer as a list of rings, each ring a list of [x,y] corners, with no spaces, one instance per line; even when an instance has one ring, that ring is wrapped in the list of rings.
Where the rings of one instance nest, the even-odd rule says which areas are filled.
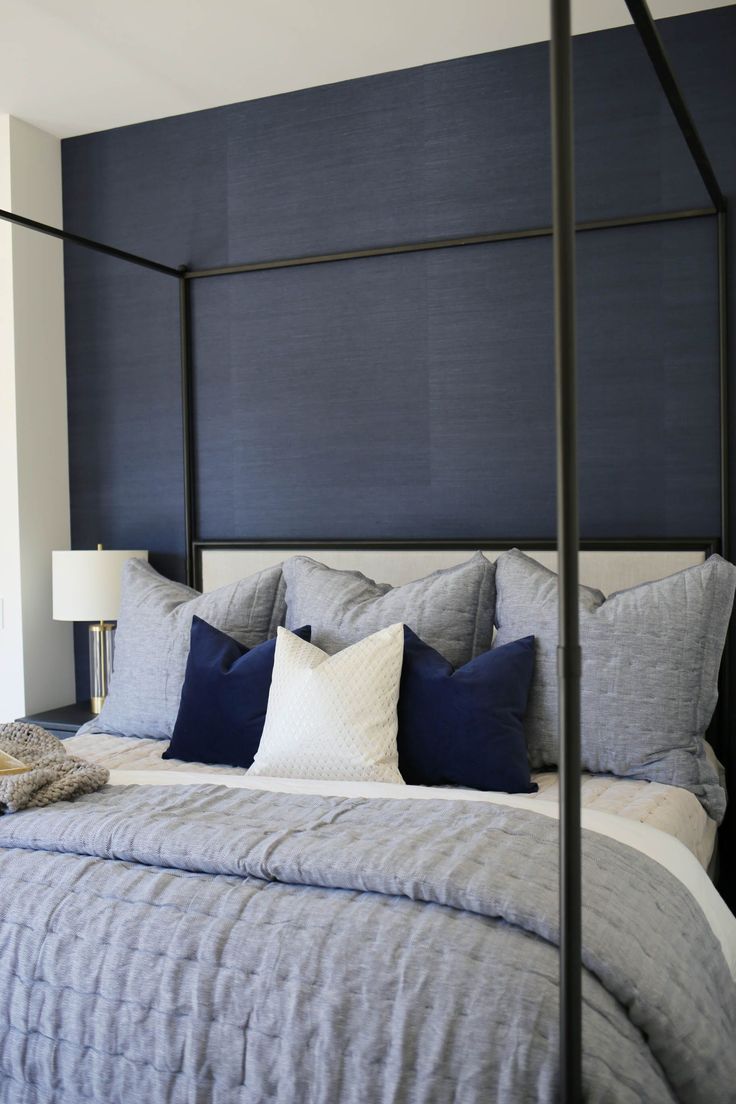
[[[206,774],[235,776],[243,776],[246,773],[242,767],[206,766],[199,763],[183,763],[181,760],[162,761],[161,755],[169,745],[161,740],[138,740],[131,736],[90,733],[72,736],[65,741],[65,746],[71,754],[102,763],[110,769],[163,769],[177,774],[194,769]],[[532,795],[531,800],[557,805],[559,789],[556,772],[544,772],[533,777],[540,786],[540,793]],[[716,826],[697,798],[689,790],[654,782],[590,774],[583,775],[580,787],[584,808],[616,814],[627,820],[659,828],[684,843],[707,869],[715,847]],[[435,790],[430,793],[434,794]]]

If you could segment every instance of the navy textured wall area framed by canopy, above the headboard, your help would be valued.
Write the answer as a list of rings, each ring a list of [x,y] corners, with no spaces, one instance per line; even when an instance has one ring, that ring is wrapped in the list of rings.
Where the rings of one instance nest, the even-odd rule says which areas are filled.
[[[550,250],[198,283],[201,535],[552,534]],[[717,531],[712,226],[582,237],[579,286],[587,535]]]

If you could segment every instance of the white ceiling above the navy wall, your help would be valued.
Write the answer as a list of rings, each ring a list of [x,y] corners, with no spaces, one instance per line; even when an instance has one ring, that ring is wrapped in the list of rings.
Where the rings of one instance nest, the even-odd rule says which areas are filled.
[[[577,34],[630,21],[623,0],[574,13]],[[548,0],[0,0],[0,113],[66,137],[547,35]]]

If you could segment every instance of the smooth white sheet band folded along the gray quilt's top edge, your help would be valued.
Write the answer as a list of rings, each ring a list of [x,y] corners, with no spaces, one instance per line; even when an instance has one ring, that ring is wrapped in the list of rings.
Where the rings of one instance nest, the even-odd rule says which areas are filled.
[[[114,786],[218,785],[237,789],[286,794],[320,794],[328,797],[383,797],[408,800],[480,802],[529,809],[542,816],[558,815],[557,804],[518,794],[486,794],[477,789],[439,789],[398,786],[386,782],[317,782],[301,778],[255,778],[247,774],[217,771],[110,771]],[[583,809],[582,824],[590,831],[608,836],[649,856],[674,874],[690,890],[723,947],[728,968],[736,979],[736,916],[718,894],[705,870],[684,843],[659,828],[598,809]]]

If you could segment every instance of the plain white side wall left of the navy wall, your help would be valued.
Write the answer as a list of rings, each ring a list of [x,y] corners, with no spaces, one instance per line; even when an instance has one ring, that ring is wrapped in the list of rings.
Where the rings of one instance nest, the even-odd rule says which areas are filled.
[[[7,115],[0,206],[62,224],[58,139]],[[0,721],[74,701],[72,626],[51,617],[51,552],[68,546],[62,245],[1,223]]]

